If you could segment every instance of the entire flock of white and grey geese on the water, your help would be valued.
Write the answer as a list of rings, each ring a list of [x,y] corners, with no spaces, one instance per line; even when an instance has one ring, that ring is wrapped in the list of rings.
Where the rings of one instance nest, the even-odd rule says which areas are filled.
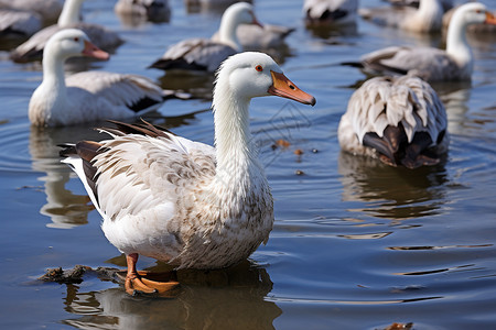
[[[9,1],[19,7],[28,2],[40,3]],[[61,4],[56,0],[43,2]],[[0,16],[9,10],[26,15],[20,8],[7,9],[6,3],[0,1]],[[281,43],[292,30],[261,24],[250,3],[238,2],[225,10],[214,36],[171,45],[150,64],[166,72],[215,73],[215,146],[211,146],[145,121],[117,121],[157,109],[168,98],[181,98],[181,94],[163,90],[147,77],[101,70],[65,77],[68,58],[106,61],[110,56],[107,52],[122,43],[109,30],[83,23],[82,3],[66,0],[57,23],[36,33],[15,31],[31,37],[12,51],[11,58],[43,58],[43,81],[29,105],[33,125],[96,120],[115,124],[100,129],[108,140],[64,144],[61,155],[104,218],[105,235],[126,254],[127,293],[163,293],[177,285],[174,280],[152,280],[150,274],[138,272],[140,254],[176,268],[219,268],[245,260],[267,242],[273,224],[272,196],[250,136],[250,100],[278,96],[314,106],[315,98],[289,80],[270,56],[242,51]],[[303,12],[308,24],[346,24],[360,14],[378,24],[427,33],[442,29],[451,1],[420,0],[409,6],[418,8],[365,10],[358,9],[356,0],[305,0]],[[115,10],[152,21],[171,14],[165,0],[119,0]],[[42,10],[34,11],[31,6],[33,16],[43,18]],[[346,63],[378,77],[352,95],[338,125],[341,147],[391,166],[438,164],[448,150],[448,120],[429,82],[471,79],[474,56],[465,33],[470,25],[482,23],[496,24],[496,19],[484,4],[466,3],[451,15],[445,51],[392,46]],[[11,28],[9,33],[13,31]]]

